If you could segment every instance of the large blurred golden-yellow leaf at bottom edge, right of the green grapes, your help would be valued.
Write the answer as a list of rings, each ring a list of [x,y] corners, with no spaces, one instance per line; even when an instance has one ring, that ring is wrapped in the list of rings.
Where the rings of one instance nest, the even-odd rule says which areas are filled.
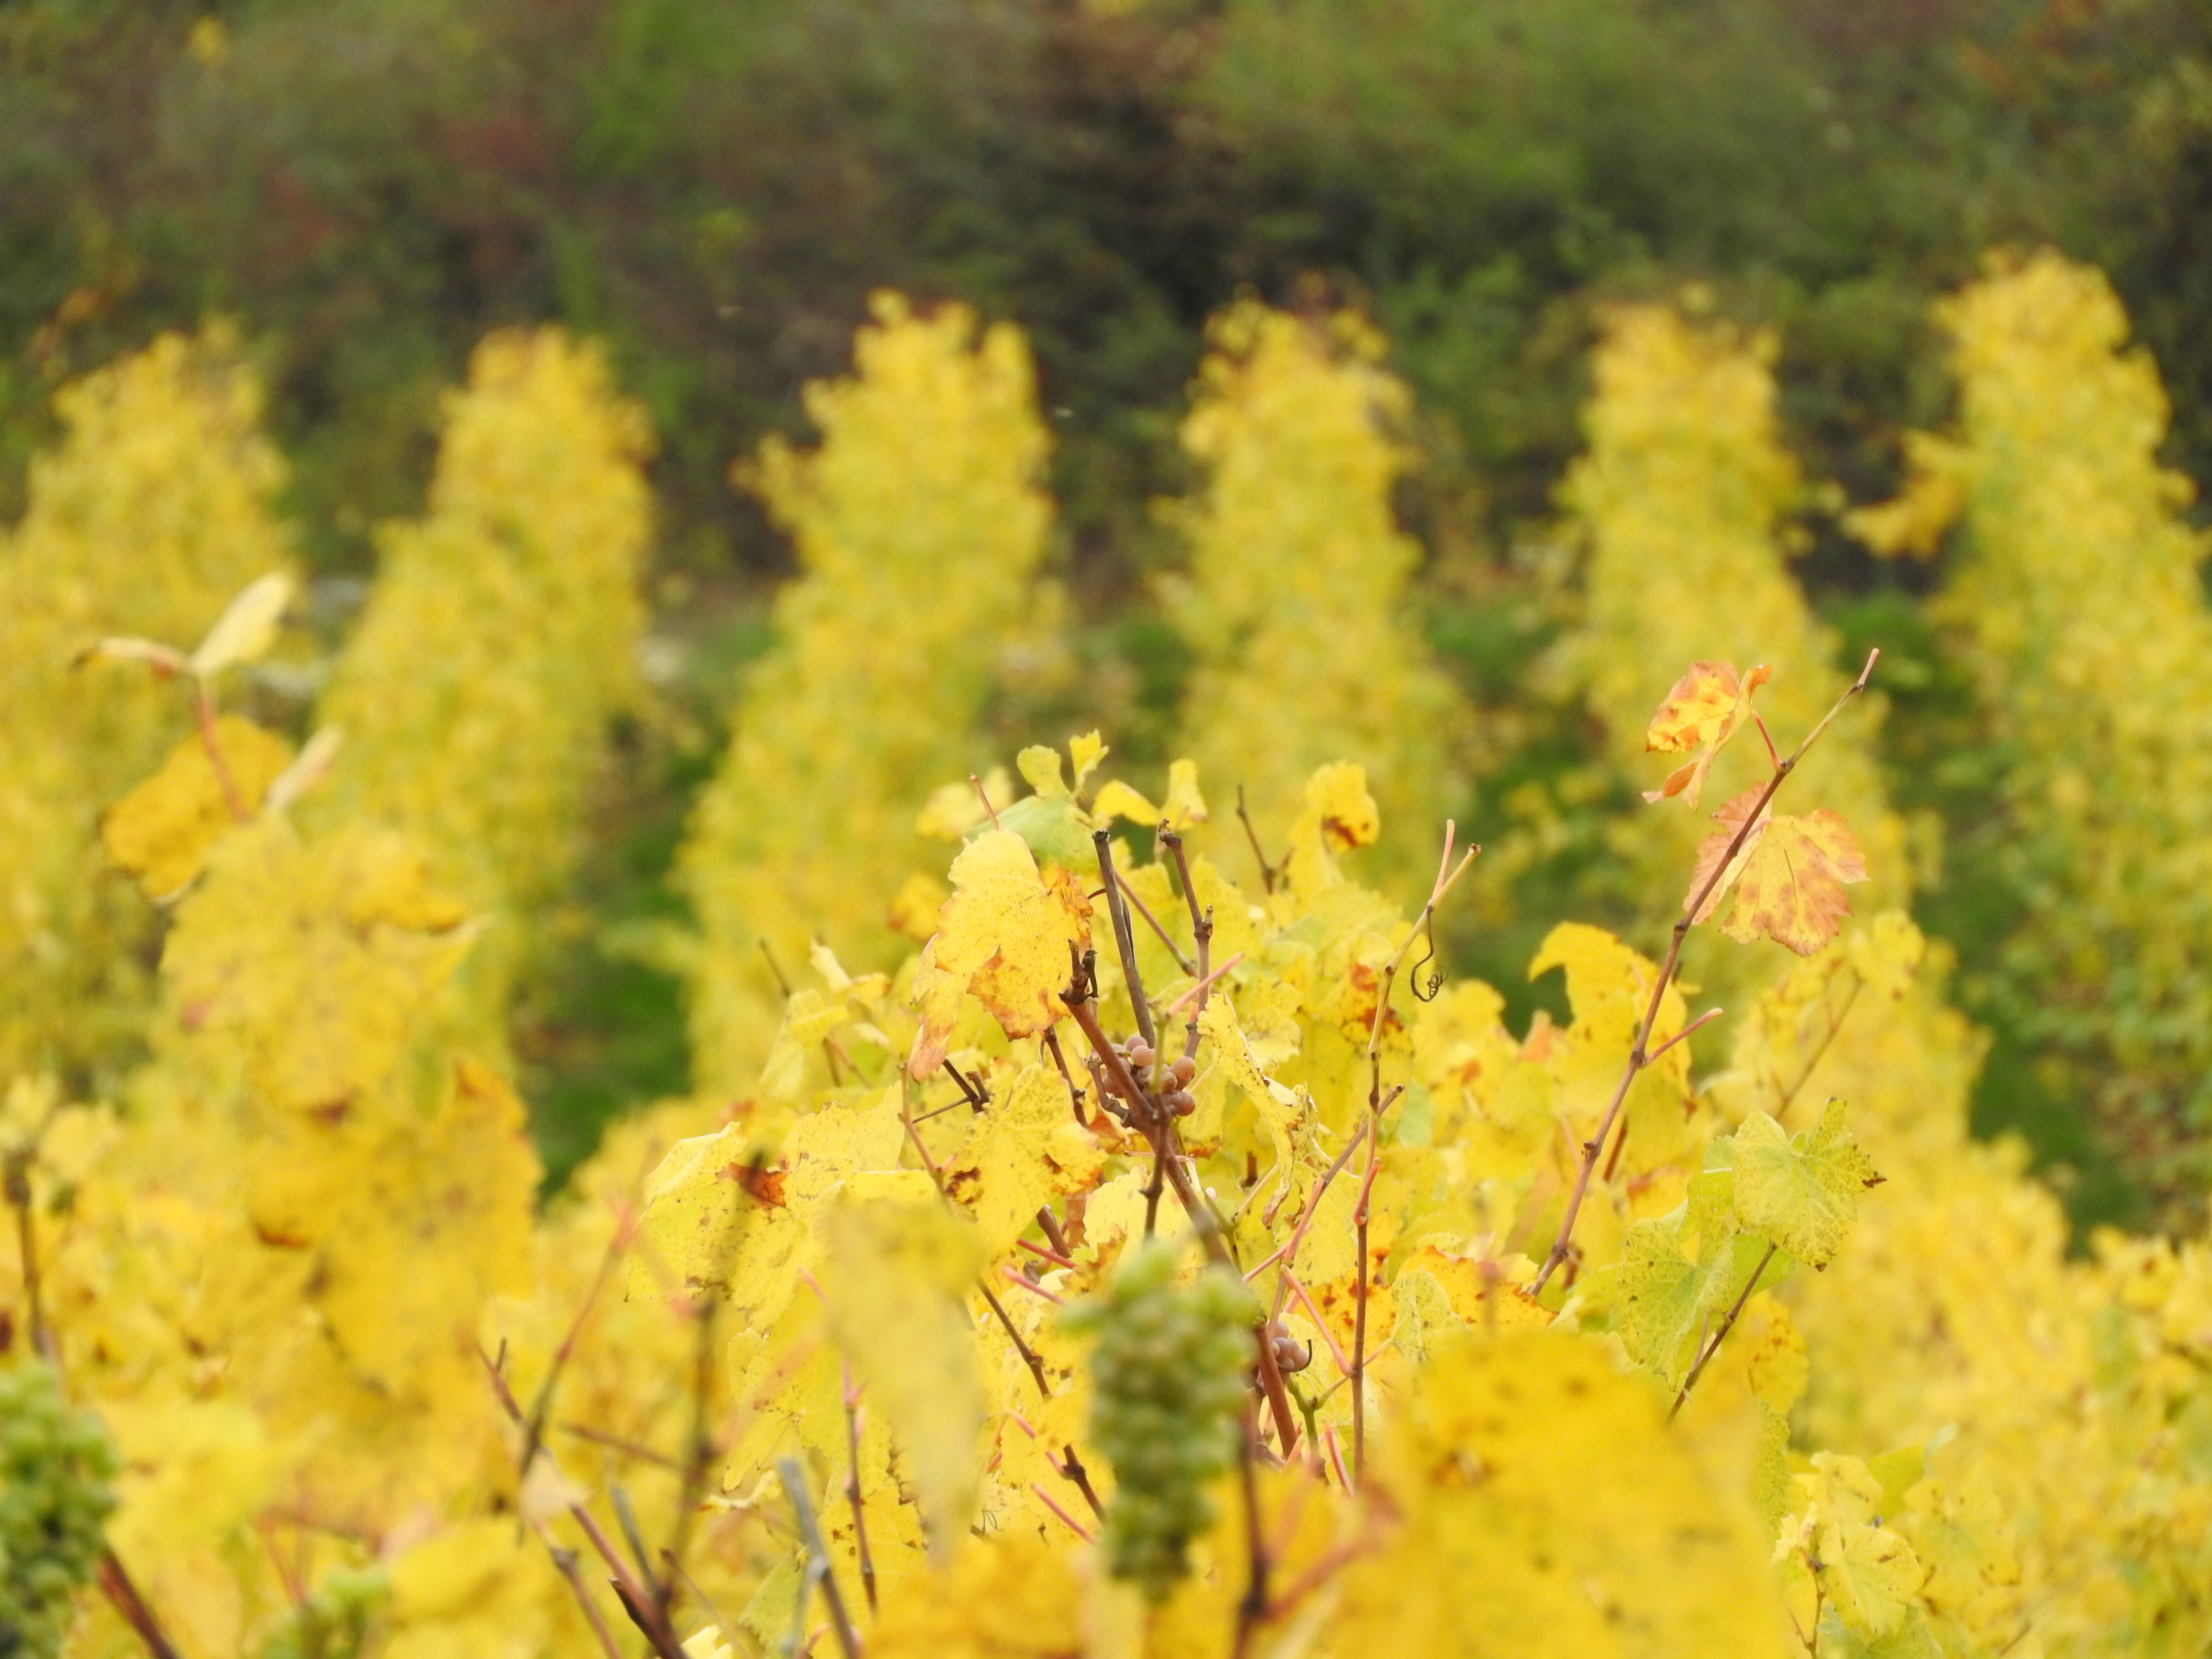
[[[1597,1343],[1506,1332],[1438,1356],[1391,1418],[1383,1486],[1402,1531],[1347,1568],[1334,1652],[1783,1652],[1761,1540]]]

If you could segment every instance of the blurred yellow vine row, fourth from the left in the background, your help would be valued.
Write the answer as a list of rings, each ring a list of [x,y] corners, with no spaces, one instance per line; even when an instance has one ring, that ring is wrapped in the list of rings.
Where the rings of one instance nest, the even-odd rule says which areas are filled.
[[[1391,489],[1413,453],[1405,385],[1352,312],[1241,301],[1214,319],[1183,418],[1203,484],[1170,507],[1190,546],[1170,613],[1192,659],[1177,754],[1214,796],[1212,843],[1245,803],[1274,845],[1307,774],[1367,768],[1391,827],[1385,869],[1427,872],[1453,805],[1467,712],[1407,615],[1420,546]]]

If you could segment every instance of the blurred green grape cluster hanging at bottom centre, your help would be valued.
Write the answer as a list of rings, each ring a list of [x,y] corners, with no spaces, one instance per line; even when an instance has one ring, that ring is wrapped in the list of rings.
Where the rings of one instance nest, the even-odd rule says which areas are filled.
[[[1155,1601],[1190,1571],[1212,1524],[1206,1489],[1237,1462],[1259,1305],[1225,1267],[1175,1283],[1177,1248],[1152,1239],[1068,1314],[1091,1349],[1091,1438],[1115,1473],[1106,1562]]]

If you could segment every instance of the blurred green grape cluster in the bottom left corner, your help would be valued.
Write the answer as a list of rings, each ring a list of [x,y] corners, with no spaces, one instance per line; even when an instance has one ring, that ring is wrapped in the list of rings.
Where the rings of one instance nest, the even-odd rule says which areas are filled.
[[[115,1447],[40,1360],[0,1369],[0,1659],[51,1659],[100,1564]]]

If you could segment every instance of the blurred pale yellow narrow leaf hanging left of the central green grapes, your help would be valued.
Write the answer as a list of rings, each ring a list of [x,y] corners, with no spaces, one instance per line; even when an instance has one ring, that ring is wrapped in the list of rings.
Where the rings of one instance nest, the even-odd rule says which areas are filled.
[[[816,1225],[830,1332],[889,1420],[942,1557],[975,1506],[982,1380],[967,1290],[984,1252],[920,1170],[854,1177]]]

